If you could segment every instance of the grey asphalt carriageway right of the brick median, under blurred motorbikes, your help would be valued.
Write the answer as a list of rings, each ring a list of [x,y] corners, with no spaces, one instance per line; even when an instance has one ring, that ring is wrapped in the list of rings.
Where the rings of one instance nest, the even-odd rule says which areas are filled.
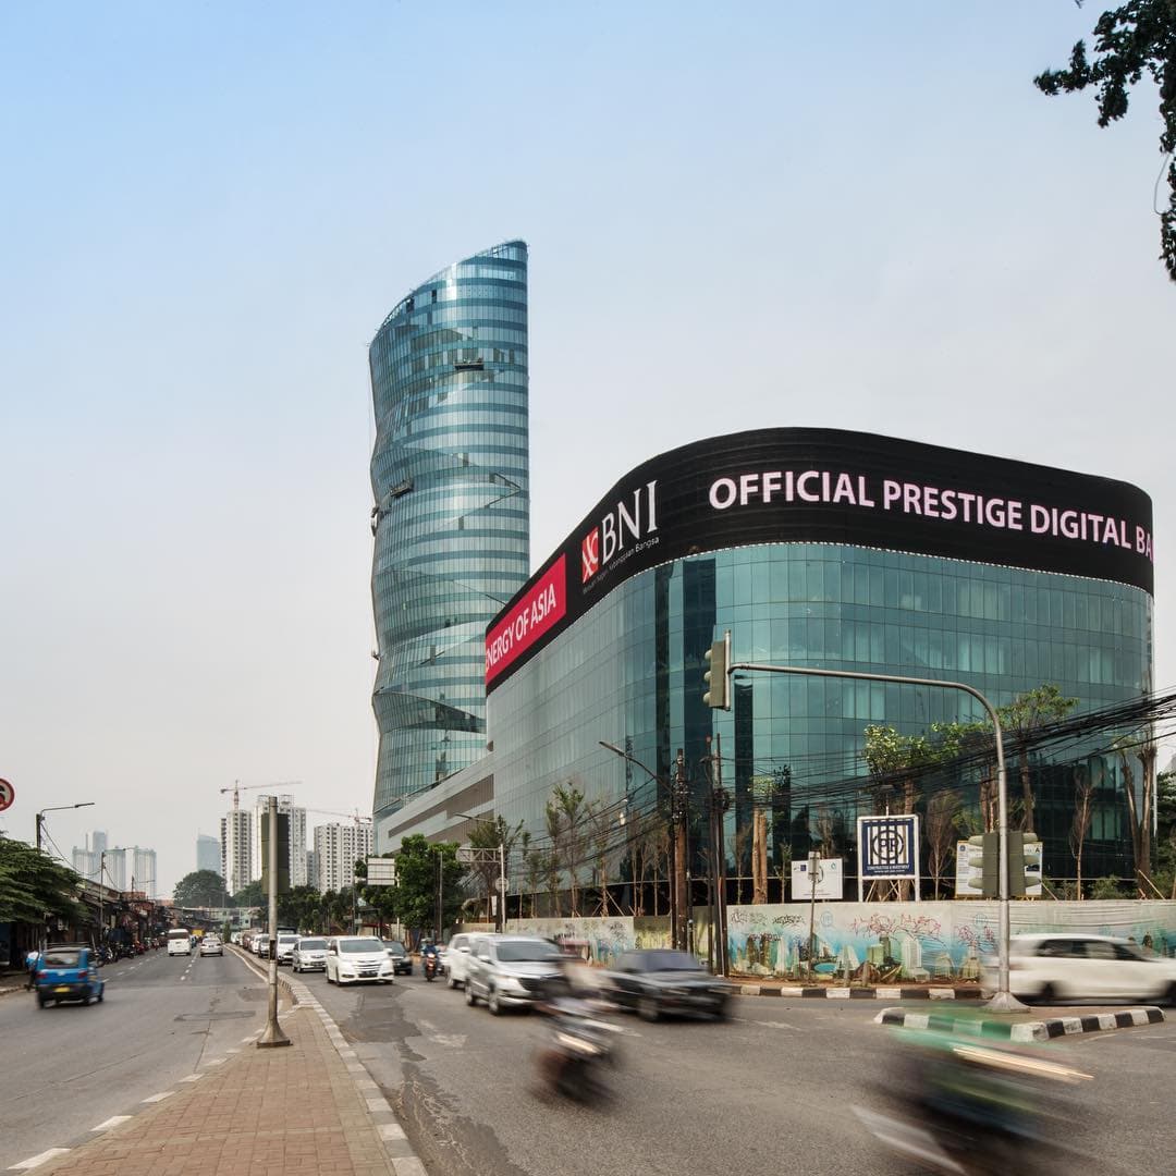
[[[526,1014],[492,1017],[420,975],[393,987],[303,977],[354,1041],[434,1176],[903,1176],[850,1107],[882,1109],[898,1069],[874,1002],[740,997],[727,1024],[622,1017],[615,1098],[543,1097]],[[1094,1075],[1067,1104],[1068,1174],[1163,1170],[1176,1151],[1176,1024],[1054,1042]]]

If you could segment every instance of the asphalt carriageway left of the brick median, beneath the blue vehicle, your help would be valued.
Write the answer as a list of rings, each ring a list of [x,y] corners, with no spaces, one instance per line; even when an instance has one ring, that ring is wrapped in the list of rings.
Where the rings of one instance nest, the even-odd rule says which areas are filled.
[[[31,993],[0,1000],[0,1171],[92,1138],[98,1124],[142,1110],[265,1024],[265,987],[230,953],[168,958],[161,948],[102,974],[101,1004],[40,1009]]]

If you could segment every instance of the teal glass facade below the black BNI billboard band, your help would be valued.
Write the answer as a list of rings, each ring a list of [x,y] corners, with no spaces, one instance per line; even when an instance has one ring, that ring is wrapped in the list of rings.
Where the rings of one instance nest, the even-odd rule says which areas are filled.
[[[494,690],[495,811],[541,838],[556,784],[573,781],[589,800],[652,804],[657,786],[601,740],[663,780],[681,748],[701,796],[707,740],[719,736],[734,801],[726,814],[733,875],[743,874],[737,847],[747,846],[764,781],[789,781],[773,802],[777,864],[786,849],[809,850],[809,809],[830,796],[836,851],[855,860],[857,808],[873,811],[862,788],[864,728],[918,734],[984,717],[962,691],[781,674],[737,675],[731,710],[711,711],[702,701],[703,655],[724,629],[737,661],[954,679],[997,706],[1043,683],[1076,697],[1081,710],[1152,689],[1152,600],[1140,588],[833,543],[735,547],[617,584]],[[1115,763],[1103,769],[1111,781]],[[1015,764],[1010,771],[1014,793]],[[1047,763],[1034,771],[1047,874],[1073,876],[1073,780],[1055,779]],[[1084,857],[1091,876],[1129,875],[1120,821],[1121,806],[1096,806]],[[700,828],[700,870],[704,843]]]

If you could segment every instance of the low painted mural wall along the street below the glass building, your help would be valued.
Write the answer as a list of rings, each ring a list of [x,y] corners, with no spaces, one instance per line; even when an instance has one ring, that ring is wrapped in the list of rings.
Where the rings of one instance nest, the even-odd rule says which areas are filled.
[[[840,983],[960,982],[980,976],[981,960],[996,950],[995,902],[818,902],[814,970]],[[1134,940],[1157,955],[1176,957],[1176,902],[1014,902],[1014,935],[1075,931]],[[707,958],[710,927],[704,907],[694,910],[695,954]],[[632,948],[669,947],[669,920],[510,920],[514,934],[581,940],[594,963],[610,967]],[[808,974],[809,904],[728,907],[731,974],[801,980]]]

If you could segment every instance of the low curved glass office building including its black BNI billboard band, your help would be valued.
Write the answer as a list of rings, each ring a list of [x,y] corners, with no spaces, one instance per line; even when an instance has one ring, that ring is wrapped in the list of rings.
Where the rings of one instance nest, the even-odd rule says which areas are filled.
[[[737,674],[731,709],[713,711],[711,642],[729,629],[736,662],[956,680],[997,706],[1054,683],[1093,710],[1152,689],[1150,535],[1150,500],[1127,483],[868,434],[764,429],[662,454],[617,482],[487,629],[494,751],[447,786],[449,811],[493,806],[539,842],[556,784],[614,811],[652,803],[657,786],[601,741],[662,781],[681,749],[697,801],[714,737],[733,875],[746,876],[764,795],[775,867],[808,851],[818,817],[822,840],[853,858],[857,809],[871,810],[864,728],[920,734],[981,720],[980,704],[757,671]],[[1073,876],[1074,781],[1047,768],[1034,766],[1045,869]],[[1116,770],[1108,757],[1108,788]],[[441,835],[443,817],[413,806],[386,831]],[[1130,873],[1122,820],[1108,794],[1091,876]]]

